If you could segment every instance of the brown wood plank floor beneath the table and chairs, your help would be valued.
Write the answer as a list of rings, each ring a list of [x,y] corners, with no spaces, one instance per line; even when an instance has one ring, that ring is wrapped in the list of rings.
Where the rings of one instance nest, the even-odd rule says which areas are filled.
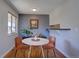
[[[29,49],[16,51],[14,48],[4,58],[28,58],[28,52]],[[57,49],[55,49],[55,55],[53,49],[49,49],[48,52],[44,49],[44,55],[45,58],[65,58]],[[40,47],[32,47],[30,58],[43,58]]]

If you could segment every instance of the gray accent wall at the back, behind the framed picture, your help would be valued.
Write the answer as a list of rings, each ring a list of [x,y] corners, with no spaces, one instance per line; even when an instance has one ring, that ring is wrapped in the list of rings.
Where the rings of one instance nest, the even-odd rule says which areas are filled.
[[[30,28],[30,19],[39,19],[39,28],[38,29],[29,29]],[[19,15],[19,33],[21,29],[29,29],[35,33],[42,33],[45,36],[48,36],[46,28],[49,26],[49,15],[32,15],[32,14],[20,14]]]

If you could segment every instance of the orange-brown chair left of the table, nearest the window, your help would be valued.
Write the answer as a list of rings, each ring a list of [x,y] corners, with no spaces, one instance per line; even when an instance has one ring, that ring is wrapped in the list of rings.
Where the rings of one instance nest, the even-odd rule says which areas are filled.
[[[27,50],[28,49],[28,46],[27,45],[24,45],[23,43],[22,43],[22,38],[21,37],[16,37],[15,38],[15,49],[16,49],[16,53],[17,53],[17,51],[19,50],[19,51],[22,51],[22,50]],[[15,53],[15,56],[16,56],[16,53]],[[25,52],[24,52],[25,53]],[[16,56],[16,57],[18,57],[18,56]],[[19,56],[20,57],[20,56]],[[22,56],[21,56],[22,57]],[[23,56],[24,57],[24,56]]]

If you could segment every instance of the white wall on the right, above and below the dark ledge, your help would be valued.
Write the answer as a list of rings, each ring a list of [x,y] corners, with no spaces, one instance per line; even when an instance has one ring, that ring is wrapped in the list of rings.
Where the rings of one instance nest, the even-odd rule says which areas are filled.
[[[65,3],[50,13],[50,25],[61,24],[70,31],[53,31],[56,48],[67,57],[79,57],[79,0],[65,0]]]

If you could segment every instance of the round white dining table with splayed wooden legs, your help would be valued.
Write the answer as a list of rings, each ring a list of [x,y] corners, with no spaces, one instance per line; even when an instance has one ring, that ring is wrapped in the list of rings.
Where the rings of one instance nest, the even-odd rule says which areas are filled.
[[[26,38],[26,39],[23,39],[22,40],[22,42],[24,44],[30,45],[28,57],[30,57],[31,46],[40,46],[41,47],[41,50],[42,50],[42,55],[43,55],[43,57],[45,57],[44,56],[44,51],[43,51],[42,45],[48,44],[49,40],[48,39],[45,39],[45,38],[37,38],[37,39],[38,40],[34,40],[34,38]]]

